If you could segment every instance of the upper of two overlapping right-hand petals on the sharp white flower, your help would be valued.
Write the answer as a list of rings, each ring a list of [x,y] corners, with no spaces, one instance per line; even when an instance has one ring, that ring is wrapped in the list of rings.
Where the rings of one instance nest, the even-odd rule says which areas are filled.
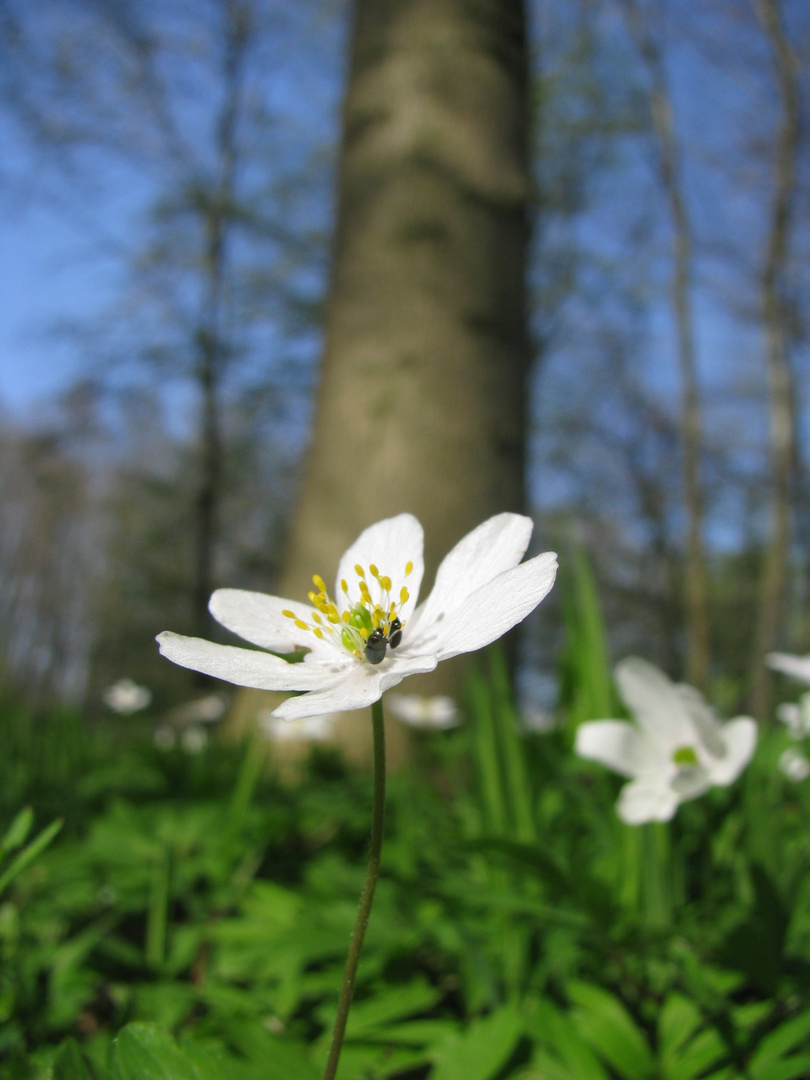
[[[414,613],[410,633],[441,621],[470,593],[517,566],[532,527],[530,517],[496,514],[468,532],[442,561],[430,596]]]

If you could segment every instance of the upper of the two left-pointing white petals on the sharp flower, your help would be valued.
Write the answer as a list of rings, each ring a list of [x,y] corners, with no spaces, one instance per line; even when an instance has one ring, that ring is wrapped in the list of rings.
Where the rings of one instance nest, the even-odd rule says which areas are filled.
[[[245,589],[217,589],[208,602],[208,610],[227,630],[262,649],[293,652],[296,646],[305,646],[313,652],[324,651],[324,643],[314,634],[299,630],[292,619],[282,615],[282,611],[292,610],[308,622],[314,611],[309,604],[296,604],[281,596]]]

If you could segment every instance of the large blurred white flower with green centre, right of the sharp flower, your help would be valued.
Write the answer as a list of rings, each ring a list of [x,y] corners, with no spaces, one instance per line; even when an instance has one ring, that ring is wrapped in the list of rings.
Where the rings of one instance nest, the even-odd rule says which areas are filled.
[[[626,824],[670,821],[686,799],[733,783],[751,760],[757,741],[751,717],[719,725],[697,690],[635,657],[617,665],[616,681],[636,723],[581,724],[575,750],[630,779],[617,805]]]

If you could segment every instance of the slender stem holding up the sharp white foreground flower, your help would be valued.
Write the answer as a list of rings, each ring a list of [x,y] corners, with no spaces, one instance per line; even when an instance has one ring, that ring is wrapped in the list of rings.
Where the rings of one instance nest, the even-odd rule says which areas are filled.
[[[338,1058],[343,1045],[346,1035],[346,1023],[349,1020],[349,1009],[351,1008],[354,995],[354,981],[357,974],[357,962],[363,948],[368,917],[372,914],[372,902],[374,891],[377,888],[377,878],[380,873],[380,850],[382,849],[382,825],[386,818],[386,728],[382,720],[382,701],[375,701],[372,705],[372,728],[374,731],[374,806],[372,809],[372,850],[368,853],[368,868],[366,879],[363,882],[363,891],[360,894],[360,910],[357,920],[354,923],[349,956],[346,960],[346,972],[343,973],[343,985],[340,987],[340,1001],[338,1002],[337,1016],[335,1017],[335,1030],[332,1034],[332,1047],[329,1048],[329,1058],[326,1062],[324,1080],[335,1080]]]

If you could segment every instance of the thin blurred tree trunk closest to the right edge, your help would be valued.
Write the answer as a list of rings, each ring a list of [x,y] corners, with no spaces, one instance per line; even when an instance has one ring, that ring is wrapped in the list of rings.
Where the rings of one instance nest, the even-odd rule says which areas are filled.
[[[778,0],[756,0],[756,11],[773,51],[782,112],[777,133],[774,192],[761,286],[770,403],[770,530],[759,579],[751,708],[754,716],[765,718],[770,705],[770,674],[765,657],[777,645],[784,607],[791,542],[791,489],[796,460],[796,417],[783,296],[796,187],[799,96],[796,59],[784,33]]]

